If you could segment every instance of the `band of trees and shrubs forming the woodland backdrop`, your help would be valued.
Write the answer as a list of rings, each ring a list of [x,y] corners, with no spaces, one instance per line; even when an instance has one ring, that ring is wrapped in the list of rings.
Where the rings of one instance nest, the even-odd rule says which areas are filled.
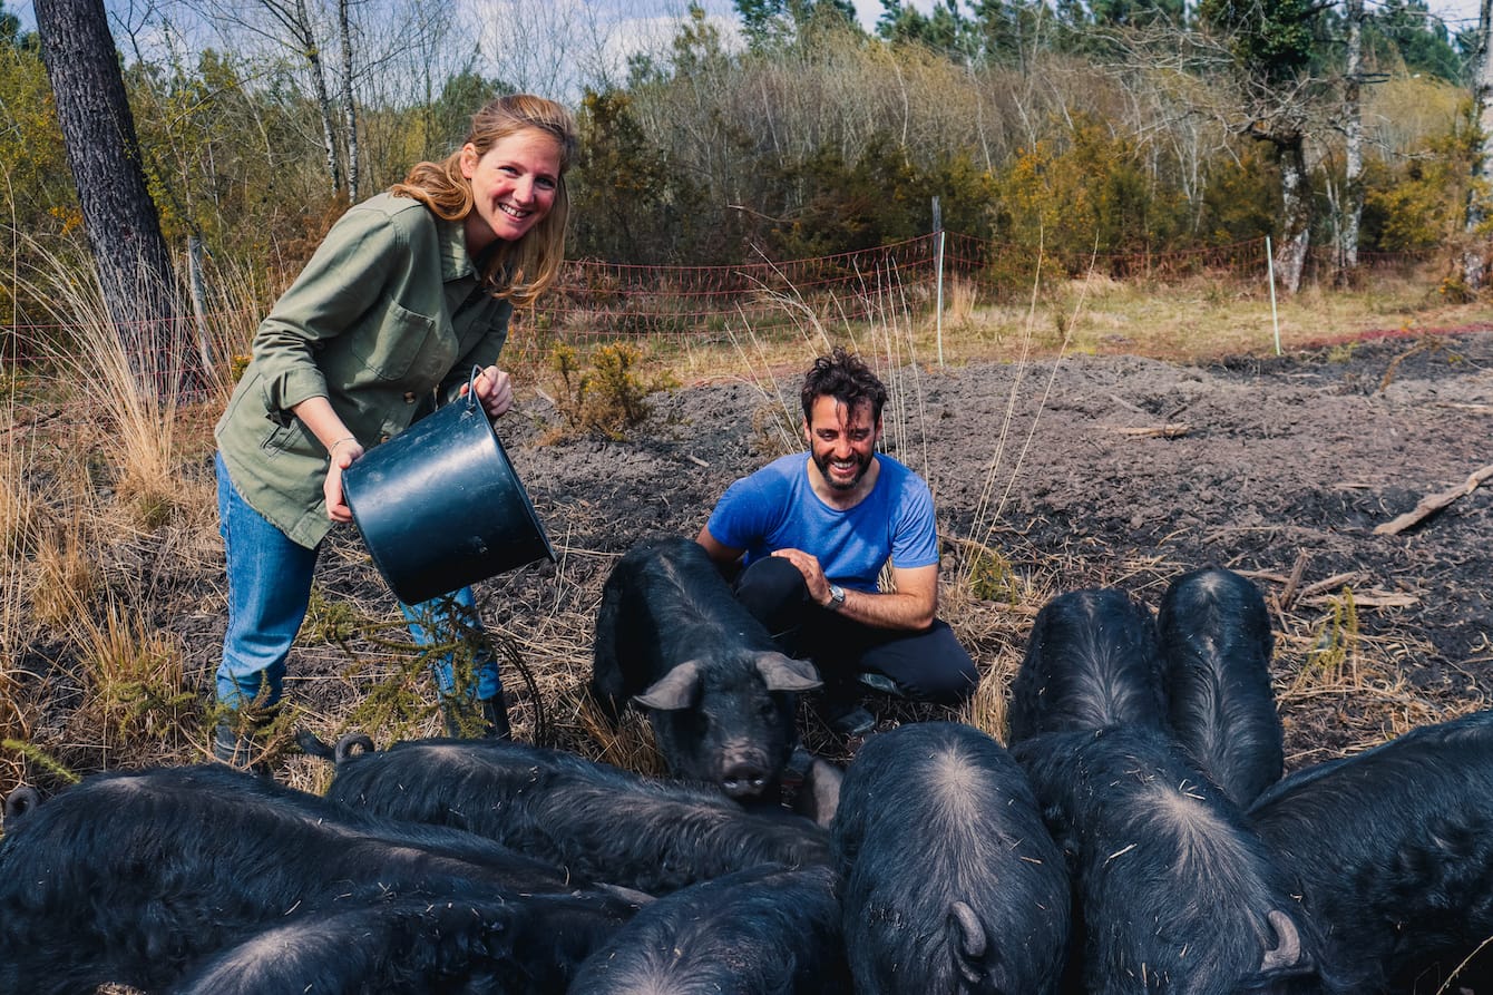
[[[1020,299],[1039,255],[1063,276],[1274,235],[1294,290],[1308,247],[1350,281],[1360,252],[1456,258],[1478,238],[1487,27],[1424,0],[882,0],[873,31],[847,0],[735,7],[691,6],[651,45],[523,3],[488,10],[502,30],[443,0],[202,0],[109,24],[163,235],[182,275],[193,247],[209,314],[261,311],[349,202],[514,90],[578,114],[578,258],[732,266],[947,229]],[[55,285],[91,261],[42,45],[3,6],[0,166],[13,354],[76,318]],[[1451,297],[1478,282],[1444,275]]]

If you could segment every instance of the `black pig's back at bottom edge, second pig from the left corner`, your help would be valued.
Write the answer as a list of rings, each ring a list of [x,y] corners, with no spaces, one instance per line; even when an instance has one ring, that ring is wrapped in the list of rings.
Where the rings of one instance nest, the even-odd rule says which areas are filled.
[[[212,955],[167,995],[560,992],[615,928],[570,895],[337,904]]]

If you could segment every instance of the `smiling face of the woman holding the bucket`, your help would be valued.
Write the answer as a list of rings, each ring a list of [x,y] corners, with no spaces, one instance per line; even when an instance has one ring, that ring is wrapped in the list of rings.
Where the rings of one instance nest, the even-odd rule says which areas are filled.
[[[479,157],[467,142],[461,175],[472,181],[466,241],[467,251],[476,254],[497,239],[523,238],[549,214],[560,187],[560,143],[546,131],[524,128]]]

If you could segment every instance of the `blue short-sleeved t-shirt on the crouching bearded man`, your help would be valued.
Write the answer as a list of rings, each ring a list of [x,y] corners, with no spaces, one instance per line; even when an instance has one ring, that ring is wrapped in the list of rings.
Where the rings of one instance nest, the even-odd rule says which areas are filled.
[[[873,592],[888,557],[897,568],[938,563],[929,486],[890,456],[875,459],[876,486],[850,511],[814,493],[809,454],[794,453],[727,487],[706,527],[721,545],[745,550],[746,563],[773,550],[803,550],[836,584]]]

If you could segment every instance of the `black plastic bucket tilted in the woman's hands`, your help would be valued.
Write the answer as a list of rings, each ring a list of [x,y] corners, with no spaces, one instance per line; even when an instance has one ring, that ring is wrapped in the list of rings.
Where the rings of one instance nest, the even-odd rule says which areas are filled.
[[[555,559],[473,382],[463,400],[345,469],[342,493],[375,566],[406,604]]]

